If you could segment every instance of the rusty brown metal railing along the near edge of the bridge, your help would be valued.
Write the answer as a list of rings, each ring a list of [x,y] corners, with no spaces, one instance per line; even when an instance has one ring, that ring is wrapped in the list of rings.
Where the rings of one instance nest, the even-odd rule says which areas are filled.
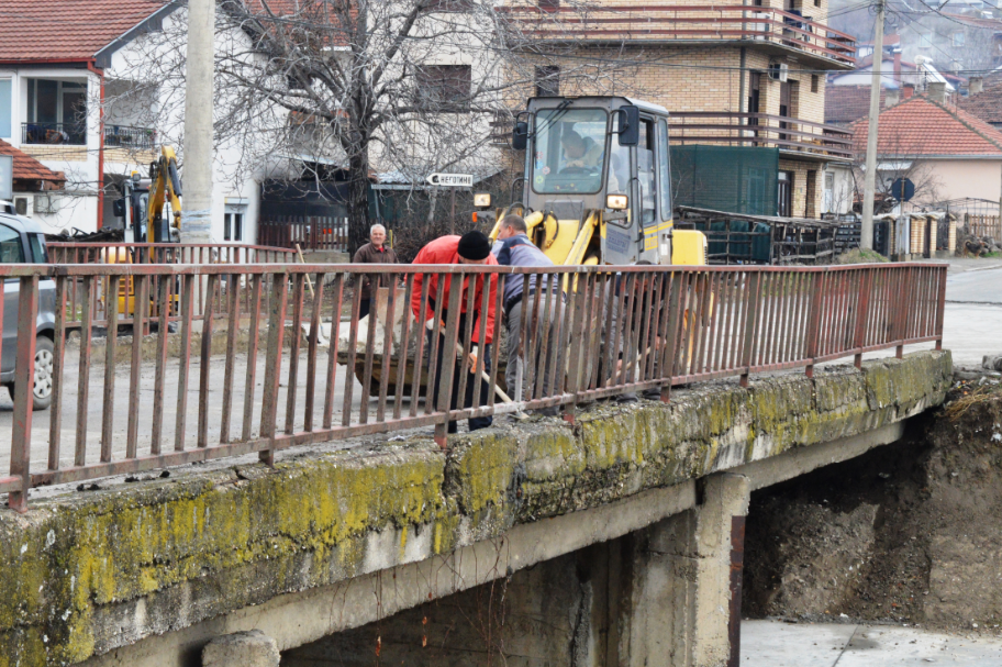
[[[40,485],[249,453],[272,463],[276,452],[296,445],[428,425],[445,446],[450,420],[563,405],[572,421],[576,404],[602,397],[656,388],[668,400],[672,385],[728,376],[746,385],[749,374],[805,368],[811,375],[815,364],[839,357],[855,356],[858,366],[869,351],[897,347],[901,356],[903,345],[926,341],[939,348],[946,286],[945,265],[915,264],[547,271],[0,265],[0,276],[20,281],[16,323],[0,321],[0,331],[18,326],[16,387],[32,386],[35,373],[40,281],[55,290],[52,407],[33,413],[31,393],[15,391],[10,475],[0,478],[0,491],[22,511],[29,489]],[[377,314],[366,320],[360,300],[346,294],[360,276],[393,286],[378,291]],[[533,276],[563,289],[531,291]],[[90,335],[69,342],[74,286],[82,286],[88,332],[99,286],[116,293],[126,280],[143,304],[141,323],[156,325],[155,340],[120,343],[112,335],[98,354]],[[511,280],[523,281],[533,312],[550,313],[526,318],[513,332],[526,360],[514,402],[488,391],[503,377],[501,363],[512,362],[501,354],[502,293]],[[207,293],[201,312],[199,284]],[[119,320],[118,303],[108,300],[108,322]],[[225,318],[216,313],[220,303]],[[490,311],[497,316],[460,315]],[[174,318],[177,333],[168,326]],[[425,320],[438,323],[438,335],[426,332]],[[463,351],[478,341],[493,344],[467,370]],[[446,362],[436,365],[439,353]],[[470,387],[470,397],[491,398],[449,403],[454,388],[463,397]],[[437,400],[426,397],[434,396],[430,388],[441,390]]]

